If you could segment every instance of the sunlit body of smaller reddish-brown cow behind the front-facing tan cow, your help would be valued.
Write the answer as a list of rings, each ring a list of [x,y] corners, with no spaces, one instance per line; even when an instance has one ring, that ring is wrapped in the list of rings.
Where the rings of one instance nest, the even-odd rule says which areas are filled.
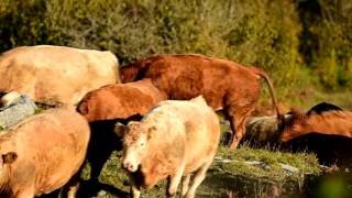
[[[130,84],[113,84],[88,92],[77,110],[89,122],[128,119],[144,116],[166,97],[153,86],[151,79]]]

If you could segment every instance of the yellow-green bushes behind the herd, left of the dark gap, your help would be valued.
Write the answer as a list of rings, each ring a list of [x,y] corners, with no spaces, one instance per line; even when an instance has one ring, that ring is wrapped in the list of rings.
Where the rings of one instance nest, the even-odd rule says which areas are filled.
[[[299,59],[293,1],[2,1],[1,51],[35,44],[110,50],[122,64],[154,53],[201,53],[258,65],[280,82],[294,79]]]

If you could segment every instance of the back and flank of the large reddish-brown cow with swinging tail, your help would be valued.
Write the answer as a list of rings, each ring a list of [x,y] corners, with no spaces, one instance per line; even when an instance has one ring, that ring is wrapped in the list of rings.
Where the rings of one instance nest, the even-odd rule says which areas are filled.
[[[130,73],[135,73],[134,78]],[[258,76],[250,68],[197,54],[152,56],[123,66],[121,78],[122,81],[151,78],[168,99],[188,100],[202,95],[216,110],[227,105],[223,101],[229,95],[257,96],[260,89]]]

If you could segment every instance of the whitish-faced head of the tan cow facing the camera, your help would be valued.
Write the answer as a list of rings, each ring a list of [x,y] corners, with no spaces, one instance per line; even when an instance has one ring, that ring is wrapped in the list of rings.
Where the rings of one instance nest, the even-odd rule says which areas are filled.
[[[148,143],[155,127],[141,122],[130,122],[127,127],[117,125],[116,132],[123,136],[122,166],[129,172],[136,172],[148,151]]]

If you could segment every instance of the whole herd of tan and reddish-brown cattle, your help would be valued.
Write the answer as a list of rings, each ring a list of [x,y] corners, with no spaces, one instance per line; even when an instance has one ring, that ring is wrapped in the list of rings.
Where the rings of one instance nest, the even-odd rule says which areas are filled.
[[[179,184],[183,197],[195,197],[220,142],[218,110],[230,121],[231,148],[248,136],[307,143],[307,135],[316,134],[323,136],[318,140],[328,136],[330,145],[331,136],[351,145],[352,112],[320,103],[307,113],[282,114],[263,70],[198,54],[154,55],[119,67],[110,52],[23,46],[0,56],[0,92],[6,94],[0,191],[9,197],[34,197],[64,186],[75,197],[86,158],[90,179],[97,182],[118,146],[132,197],[161,179],[168,180],[167,197],[176,196]],[[268,85],[275,117],[251,118],[261,78]],[[25,97],[47,110],[33,114],[35,105],[26,106],[31,100]],[[28,109],[22,112],[19,105]],[[327,161],[337,163],[344,154],[349,162],[349,147],[334,146]],[[328,144],[321,147],[328,150]],[[318,157],[324,153],[317,152]]]

